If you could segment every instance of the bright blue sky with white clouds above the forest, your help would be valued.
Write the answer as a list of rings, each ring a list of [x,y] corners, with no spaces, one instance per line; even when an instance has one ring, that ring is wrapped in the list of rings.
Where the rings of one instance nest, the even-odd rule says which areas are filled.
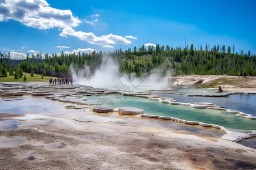
[[[0,0],[0,52],[113,51],[207,43],[256,53],[256,1]]]

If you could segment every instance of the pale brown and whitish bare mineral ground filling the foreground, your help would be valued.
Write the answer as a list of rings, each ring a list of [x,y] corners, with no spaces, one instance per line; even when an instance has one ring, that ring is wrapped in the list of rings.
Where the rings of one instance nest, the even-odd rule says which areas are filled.
[[[46,83],[27,88],[36,84],[42,94],[85,90],[49,90]],[[1,87],[1,94],[27,94],[8,101],[15,111],[0,110],[0,169],[256,169],[256,150],[222,139],[220,130],[115,112],[98,114],[88,107],[67,109],[71,103],[36,97],[35,92],[31,96],[27,88]],[[0,106],[10,98],[17,96],[2,96]]]

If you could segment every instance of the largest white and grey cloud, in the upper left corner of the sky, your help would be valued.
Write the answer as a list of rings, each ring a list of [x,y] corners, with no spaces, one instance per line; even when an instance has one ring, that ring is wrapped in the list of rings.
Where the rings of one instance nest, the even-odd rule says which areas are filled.
[[[1,1],[0,22],[9,19],[39,29],[76,27],[81,23],[70,10],[52,8],[44,0]]]

